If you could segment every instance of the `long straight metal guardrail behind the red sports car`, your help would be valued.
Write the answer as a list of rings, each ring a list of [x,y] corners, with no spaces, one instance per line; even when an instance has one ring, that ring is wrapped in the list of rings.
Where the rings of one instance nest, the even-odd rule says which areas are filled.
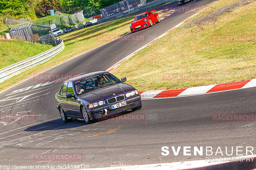
[[[173,0],[156,0],[156,1],[150,2],[150,3],[148,3],[148,4],[141,5],[141,6],[138,6],[138,7],[136,7],[136,8],[132,8],[132,9],[130,9],[130,10],[127,10],[127,11],[124,11],[124,12],[120,12],[120,13],[115,14],[115,15],[112,15],[112,16],[110,16],[110,17],[100,19],[100,20],[98,20],[98,23],[99,23],[99,24],[102,24],[102,23],[105,23],[105,22],[114,20],[114,19],[116,19],[116,18],[120,18],[120,17],[123,17],[123,16],[125,16],[125,15],[129,15],[129,14],[131,14],[131,13],[138,12],[138,11],[141,11],[141,10],[145,10],[145,9],[147,9],[147,8],[150,8],[150,7],[159,5],[159,4],[171,2],[171,1],[173,1]]]

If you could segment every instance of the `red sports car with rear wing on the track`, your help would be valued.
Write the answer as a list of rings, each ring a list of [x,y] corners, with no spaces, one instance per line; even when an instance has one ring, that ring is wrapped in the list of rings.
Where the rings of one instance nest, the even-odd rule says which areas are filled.
[[[135,32],[148,26],[152,26],[154,23],[159,23],[159,16],[156,13],[152,13],[153,11],[143,12],[137,15],[134,18],[134,21],[132,21],[132,23],[130,24],[131,32]]]

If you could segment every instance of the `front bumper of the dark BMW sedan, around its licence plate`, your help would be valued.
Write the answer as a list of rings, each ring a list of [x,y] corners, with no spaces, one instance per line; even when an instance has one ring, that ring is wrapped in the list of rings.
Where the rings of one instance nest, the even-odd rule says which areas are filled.
[[[123,107],[118,107],[116,109],[109,109],[109,107],[111,105],[113,105],[113,104],[111,104],[111,105],[98,107],[95,109],[87,109],[87,113],[88,113],[90,119],[93,120],[93,119],[98,119],[98,118],[106,116],[105,109],[107,110],[107,115],[113,115],[113,114],[118,114],[118,113],[124,112],[126,110],[132,109],[134,107],[138,107],[141,104],[140,95],[136,95],[132,98],[125,99],[123,101],[120,101],[119,103],[124,102],[124,101],[126,101],[127,105],[123,106]]]

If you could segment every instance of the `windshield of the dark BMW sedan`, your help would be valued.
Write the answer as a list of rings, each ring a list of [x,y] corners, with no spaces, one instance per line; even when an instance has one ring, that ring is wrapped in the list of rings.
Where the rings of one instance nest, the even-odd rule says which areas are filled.
[[[106,73],[103,75],[97,75],[90,78],[85,78],[75,83],[76,92],[79,94],[89,92],[101,87],[106,87],[121,81],[114,75]]]

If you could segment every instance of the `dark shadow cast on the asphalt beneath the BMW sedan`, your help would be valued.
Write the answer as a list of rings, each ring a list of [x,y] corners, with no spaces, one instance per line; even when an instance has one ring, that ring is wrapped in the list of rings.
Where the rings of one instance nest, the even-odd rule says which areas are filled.
[[[111,120],[116,120],[118,119],[119,116],[124,116],[126,114],[132,113],[134,111],[125,111],[119,114],[114,114],[114,115],[108,115],[105,116],[103,118],[97,119],[97,120],[93,120],[92,123],[96,123],[96,122],[102,122],[102,121],[111,121]],[[122,119],[122,118],[121,118]],[[72,121],[69,121],[67,123],[62,122],[61,119],[56,119],[56,120],[52,120],[49,122],[44,122],[44,123],[40,123],[31,127],[28,127],[26,130],[24,131],[45,131],[45,130],[61,130],[61,129],[71,129],[71,128],[77,128],[80,126],[87,126],[90,124],[86,124],[83,120],[78,120],[78,119],[73,119]]]

